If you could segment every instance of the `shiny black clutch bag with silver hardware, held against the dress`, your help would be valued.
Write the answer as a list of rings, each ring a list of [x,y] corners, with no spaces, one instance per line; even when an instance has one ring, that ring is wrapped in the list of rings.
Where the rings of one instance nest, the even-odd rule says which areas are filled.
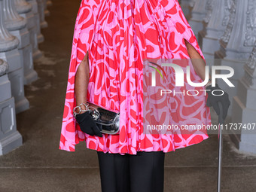
[[[102,126],[101,133],[117,134],[119,132],[120,113],[100,108],[98,105],[89,102],[87,103],[89,104],[89,110],[93,120],[96,124]]]

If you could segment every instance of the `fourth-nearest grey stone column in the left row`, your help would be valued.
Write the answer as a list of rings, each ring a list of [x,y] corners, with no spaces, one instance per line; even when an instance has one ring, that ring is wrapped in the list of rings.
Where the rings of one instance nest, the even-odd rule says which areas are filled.
[[[30,43],[32,44],[32,56],[33,59],[38,59],[40,56],[42,56],[42,53],[38,49],[36,17],[32,12],[32,5],[25,0],[14,0],[14,2],[17,8],[17,12],[20,14],[20,16],[26,18],[27,20],[27,29],[29,30]],[[34,81],[35,79],[36,78],[32,79],[32,81]]]

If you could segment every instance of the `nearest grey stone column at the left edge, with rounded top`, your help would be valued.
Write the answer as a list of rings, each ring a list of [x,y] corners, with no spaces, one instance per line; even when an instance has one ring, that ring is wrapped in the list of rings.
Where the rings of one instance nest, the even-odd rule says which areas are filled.
[[[0,156],[23,144],[22,136],[17,131],[14,97],[11,96],[7,72],[7,62],[0,59]]]

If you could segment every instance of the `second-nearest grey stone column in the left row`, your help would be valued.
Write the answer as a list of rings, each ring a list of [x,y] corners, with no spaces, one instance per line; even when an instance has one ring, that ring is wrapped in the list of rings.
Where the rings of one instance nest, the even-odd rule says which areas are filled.
[[[23,67],[17,49],[19,40],[5,28],[3,12],[4,2],[0,0],[0,58],[9,64],[8,78],[11,81],[11,94],[15,99],[15,111],[19,113],[29,108],[29,101],[24,96]],[[18,20],[16,22],[19,23]]]

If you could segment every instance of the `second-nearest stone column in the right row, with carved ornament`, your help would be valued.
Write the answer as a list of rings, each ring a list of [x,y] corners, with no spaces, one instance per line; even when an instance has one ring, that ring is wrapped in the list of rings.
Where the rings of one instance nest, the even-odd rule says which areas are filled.
[[[250,56],[256,38],[255,14],[256,0],[235,0],[230,11],[230,20],[220,40],[220,49],[215,52],[218,66],[230,66],[234,69],[234,75],[229,80],[235,87],[229,87],[224,81],[218,81],[218,85],[229,95],[236,95],[236,87],[239,78],[242,78],[242,66]],[[227,72],[222,72],[227,73]],[[230,108],[232,108],[233,100]],[[228,111],[231,115],[231,110]]]

